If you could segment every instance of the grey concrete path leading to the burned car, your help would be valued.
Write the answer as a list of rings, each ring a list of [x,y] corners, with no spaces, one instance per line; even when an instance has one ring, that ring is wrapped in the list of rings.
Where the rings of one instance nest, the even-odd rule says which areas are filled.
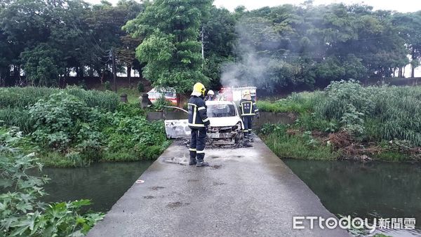
[[[187,157],[174,142],[88,236],[349,236],[317,223],[293,229],[293,216],[334,215],[258,138],[250,148],[207,149],[207,168]]]

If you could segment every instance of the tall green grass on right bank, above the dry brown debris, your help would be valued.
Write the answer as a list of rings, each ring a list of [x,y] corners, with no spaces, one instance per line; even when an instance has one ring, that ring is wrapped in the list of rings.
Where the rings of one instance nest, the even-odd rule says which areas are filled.
[[[261,111],[298,112],[302,128],[316,130],[349,127],[345,118],[362,114],[364,140],[408,140],[421,146],[421,86],[363,87],[355,81],[337,81],[324,91],[261,101],[258,106]]]

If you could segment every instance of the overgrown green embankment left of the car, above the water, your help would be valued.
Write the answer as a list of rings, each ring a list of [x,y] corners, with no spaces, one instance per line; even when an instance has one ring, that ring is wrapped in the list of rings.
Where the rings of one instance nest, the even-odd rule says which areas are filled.
[[[169,143],[163,123],[147,121],[145,113],[112,92],[0,88],[0,129],[17,127],[24,137],[18,147],[48,166],[156,158]]]

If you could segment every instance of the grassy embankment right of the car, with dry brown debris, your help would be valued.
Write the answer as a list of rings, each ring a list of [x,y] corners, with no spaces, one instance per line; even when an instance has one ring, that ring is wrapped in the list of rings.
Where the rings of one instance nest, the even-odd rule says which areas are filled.
[[[260,111],[295,112],[292,125],[265,125],[263,140],[281,158],[421,161],[421,87],[334,82],[294,93]]]

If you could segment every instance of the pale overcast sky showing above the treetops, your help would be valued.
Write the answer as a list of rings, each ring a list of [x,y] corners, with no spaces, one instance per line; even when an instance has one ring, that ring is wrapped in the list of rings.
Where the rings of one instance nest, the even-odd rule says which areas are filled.
[[[86,0],[92,4],[99,4],[101,0]],[[108,0],[113,4],[116,4],[119,0]],[[140,1],[140,0],[137,0]],[[282,4],[301,4],[305,0],[215,0],[215,6],[223,6],[230,11],[234,10],[236,6],[243,5],[246,6],[248,10],[253,10],[256,8],[261,8],[263,6],[278,6]],[[356,4],[363,3],[366,5],[373,6],[375,10],[394,10],[406,13],[408,11],[421,11],[421,1],[420,0],[314,0],[314,4],[331,4],[331,3],[340,3],[345,4]]]

